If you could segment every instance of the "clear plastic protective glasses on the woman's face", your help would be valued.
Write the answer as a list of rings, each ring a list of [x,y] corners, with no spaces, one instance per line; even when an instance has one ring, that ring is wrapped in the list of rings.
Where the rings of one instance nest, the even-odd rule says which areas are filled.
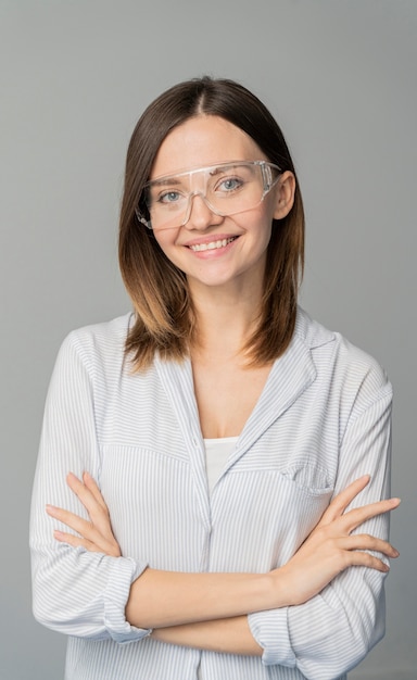
[[[215,215],[244,213],[262,203],[281,172],[267,161],[228,161],[157,177],[144,185],[146,211],[137,209],[136,214],[149,229],[182,227],[190,218],[197,196]]]

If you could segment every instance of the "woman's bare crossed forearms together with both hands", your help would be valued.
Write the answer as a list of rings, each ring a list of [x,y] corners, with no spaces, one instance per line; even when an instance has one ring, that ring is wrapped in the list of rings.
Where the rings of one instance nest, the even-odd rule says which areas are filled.
[[[365,489],[365,476],[337,495],[309,537],[282,567],[268,574],[184,574],[148,568],[130,588],[126,619],[138,628],[152,628],[152,637],[174,644],[231,654],[262,655],[248,614],[307,602],[341,571],[365,566],[388,571],[386,562],[370,554],[396,557],[387,541],[352,532],[367,519],[394,509],[399,499],[371,503],[346,512]],[[105,502],[87,473],[68,475],[67,483],[86,507],[89,520],[48,506],[50,516],[78,536],[55,531],[55,539],[114,557],[121,549],[112,532]]]

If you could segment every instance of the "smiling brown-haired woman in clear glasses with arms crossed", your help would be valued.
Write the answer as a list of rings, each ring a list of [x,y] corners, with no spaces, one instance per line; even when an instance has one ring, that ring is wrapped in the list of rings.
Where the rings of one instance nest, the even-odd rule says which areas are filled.
[[[34,610],[67,679],[344,678],[382,637],[391,387],[298,307],[303,235],[251,92],[204,77],[143,113],[135,313],[64,342],[35,480]]]

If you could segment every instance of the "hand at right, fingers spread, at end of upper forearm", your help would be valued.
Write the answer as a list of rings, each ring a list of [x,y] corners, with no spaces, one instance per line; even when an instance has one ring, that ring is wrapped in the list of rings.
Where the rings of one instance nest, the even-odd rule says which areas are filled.
[[[400,553],[388,541],[365,533],[352,536],[352,531],[367,519],[397,507],[400,499],[379,501],[345,512],[368,483],[369,476],[361,477],[339,493],[291,559],[271,571],[280,589],[283,587],[288,592],[289,605],[307,602],[348,567],[363,566],[389,571],[382,559],[367,551],[382,553],[387,557],[397,557]]]

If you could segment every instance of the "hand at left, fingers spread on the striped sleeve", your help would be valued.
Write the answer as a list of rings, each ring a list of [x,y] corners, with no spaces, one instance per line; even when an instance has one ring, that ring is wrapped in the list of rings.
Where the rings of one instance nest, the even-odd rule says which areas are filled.
[[[79,534],[74,536],[56,530],[53,532],[55,539],[73,547],[85,547],[90,552],[121,557],[122,551],[113,534],[109,508],[91,475],[84,473],[83,480],[80,480],[70,473],[66,483],[83,503],[89,520],[61,507],[47,505],[48,515],[59,519]]]

